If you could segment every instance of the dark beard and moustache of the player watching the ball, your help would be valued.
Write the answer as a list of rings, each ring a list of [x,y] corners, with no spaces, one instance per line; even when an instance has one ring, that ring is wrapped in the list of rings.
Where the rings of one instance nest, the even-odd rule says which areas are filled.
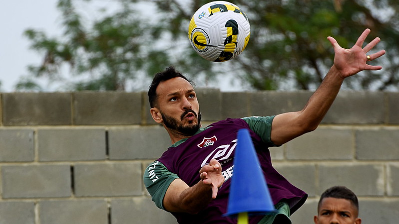
[[[187,115],[187,113],[192,112],[194,113],[194,116],[197,118],[197,123],[193,124],[191,121],[188,124],[182,124],[181,120],[183,120],[184,116]],[[189,109],[186,110],[185,112],[183,112],[180,116],[180,122],[169,115],[165,115],[163,113],[161,113],[162,115],[162,119],[163,119],[163,123],[165,124],[166,127],[168,127],[169,129],[175,130],[180,132],[181,134],[185,135],[185,136],[192,136],[195,134],[195,132],[198,131],[198,129],[201,126],[201,112],[198,111],[198,115],[196,112],[194,112],[193,110]]]

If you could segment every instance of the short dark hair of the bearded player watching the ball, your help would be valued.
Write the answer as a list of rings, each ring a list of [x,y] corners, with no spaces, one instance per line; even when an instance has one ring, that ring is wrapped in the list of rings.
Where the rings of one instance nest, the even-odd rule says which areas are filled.
[[[188,80],[180,72],[176,71],[176,69],[173,66],[169,66],[168,68],[166,68],[165,71],[158,72],[157,74],[155,74],[154,79],[152,80],[152,83],[148,90],[148,101],[150,102],[151,108],[154,108],[156,105],[156,100],[157,100],[156,88],[158,87],[158,85],[163,81],[176,77],[181,77],[187,80],[189,83],[191,83],[191,85],[194,85],[194,83],[191,80]]]

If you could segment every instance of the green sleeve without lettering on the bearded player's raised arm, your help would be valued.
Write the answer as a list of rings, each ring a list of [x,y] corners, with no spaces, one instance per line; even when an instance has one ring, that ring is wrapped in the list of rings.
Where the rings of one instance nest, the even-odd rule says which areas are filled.
[[[272,122],[275,116],[247,116],[243,117],[249,128],[262,138],[262,141],[267,143],[269,147],[275,147],[271,139]]]

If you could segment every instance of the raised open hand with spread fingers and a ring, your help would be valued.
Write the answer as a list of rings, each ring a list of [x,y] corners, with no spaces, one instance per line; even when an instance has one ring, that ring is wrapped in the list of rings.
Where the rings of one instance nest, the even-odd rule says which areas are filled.
[[[367,53],[380,42],[380,38],[376,37],[373,41],[362,48],[362,45],[369,33],[369,28],[363,31],[362,35],[358,38],[358,41],[356,41],[355,45],[351,49],[342,48],[336,39],[331,36],[327,37],[334,47],[334,66],[339,71],[341,78],[345,79],[363,70],[382,69],[382,66],[367,64],[368,61],[375,60],[385,54],[385,50],[380,50],[377,53],[370,54],[369,58],[367,57]]]

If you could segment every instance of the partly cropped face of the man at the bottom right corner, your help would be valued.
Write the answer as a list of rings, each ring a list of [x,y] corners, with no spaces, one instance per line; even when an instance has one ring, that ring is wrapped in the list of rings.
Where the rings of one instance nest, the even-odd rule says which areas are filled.
[[[318,216],[314,217],[315,224],[361,224],[358,210],[347,199],[324,198]]]

